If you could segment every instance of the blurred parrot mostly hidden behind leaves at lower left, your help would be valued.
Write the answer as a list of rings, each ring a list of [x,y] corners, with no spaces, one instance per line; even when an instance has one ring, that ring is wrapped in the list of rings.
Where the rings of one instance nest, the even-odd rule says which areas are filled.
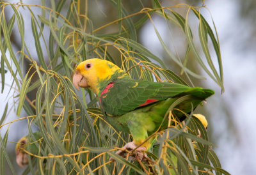
[[[38,141],[42,139],[42,133],[41,132],[34,132],[33,133],[35,139]],[[33,139],[30,137],[28,141],[28,135],[22,137],[16,145],[15,151],[16,151],[16,162],[20,167],[24,167],[24,165],[28,165],[28,153],[31,153],[32,155],[37,155],[38,148],[33,141]],[[26,151],[24,151],[26,150]],[[33,156],[31,156],[33,158]]]

